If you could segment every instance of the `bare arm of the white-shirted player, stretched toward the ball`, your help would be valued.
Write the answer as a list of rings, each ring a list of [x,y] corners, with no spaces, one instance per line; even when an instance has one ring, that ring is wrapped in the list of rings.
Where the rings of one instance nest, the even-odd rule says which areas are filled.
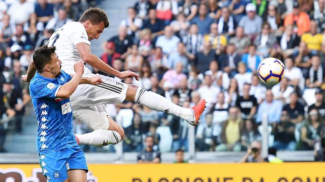
[[[137,80],[139,80],[139,76],[137,73],[132,71],[122,71],[119,72],[112,68],[111,66],[107,65],[102,61],[99,57],[93,55],[90,51],[90,47],[87,43],[80,42],[76,45],[76,48],[81,56],[81,59],[84,60],[87,64],[90,66],[99,69],[105,73],[117,76],[121,79],[127,78],[127,77],[135,77]]]

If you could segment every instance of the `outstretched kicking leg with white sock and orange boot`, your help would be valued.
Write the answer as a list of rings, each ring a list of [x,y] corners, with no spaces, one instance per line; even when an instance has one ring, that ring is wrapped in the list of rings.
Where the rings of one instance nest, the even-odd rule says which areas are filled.
[[[136,85],[128,85],[125,100],[144,105],[155,111],[173,114],[185,119],[190,125],[197,125],[199,123],[200,116],[206,108],[205,99],[201,99],[194,107],[183,108],[163,96]]]

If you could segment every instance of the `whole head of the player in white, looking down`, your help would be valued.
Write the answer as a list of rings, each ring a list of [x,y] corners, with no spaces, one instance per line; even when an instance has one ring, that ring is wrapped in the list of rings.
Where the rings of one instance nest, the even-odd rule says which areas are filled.
[[[89,8],[78,21],[85,27],[88,40],[98,39],[104,28],[109,26],[105,11],[100,8]]]

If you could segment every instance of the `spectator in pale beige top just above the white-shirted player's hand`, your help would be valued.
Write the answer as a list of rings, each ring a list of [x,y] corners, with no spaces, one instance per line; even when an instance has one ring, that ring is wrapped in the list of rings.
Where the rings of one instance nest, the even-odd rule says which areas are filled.
[[[131,47],[131,54],[129,54],[124,63],[124,70],[140,71],[143,64],[143,57],[139,55],[138,45],[133,44]]]

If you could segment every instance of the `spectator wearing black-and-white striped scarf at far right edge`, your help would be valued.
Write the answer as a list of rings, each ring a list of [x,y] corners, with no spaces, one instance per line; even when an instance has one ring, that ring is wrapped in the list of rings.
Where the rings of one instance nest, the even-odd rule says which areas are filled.
[[[318,55],[311,57],[311,67],[309,69],[309,74],[306,78],[306,86],[309,88],[319,87],[325,78],[325,70],[320,64],[320,58]]]

